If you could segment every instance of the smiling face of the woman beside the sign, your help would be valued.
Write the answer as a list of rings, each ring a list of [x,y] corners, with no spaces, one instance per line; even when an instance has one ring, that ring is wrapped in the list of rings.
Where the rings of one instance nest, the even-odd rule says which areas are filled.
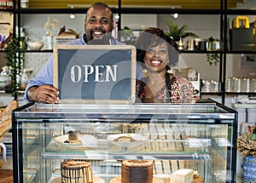
[[[149,71],[166,71],[169,60],[167,43],[159,43],[154,47],[149,47],[144,57],[144,63]]]

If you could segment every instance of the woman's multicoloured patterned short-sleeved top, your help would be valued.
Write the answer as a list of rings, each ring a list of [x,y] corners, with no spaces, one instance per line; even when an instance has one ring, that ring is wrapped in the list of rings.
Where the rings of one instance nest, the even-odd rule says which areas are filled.
[[[144,86],[146,85],[144,81],[146,79],[147,78],[138,80],[136,83],[137,103],[146,102],[144,91]],[[154,96],[154,103],[195,103],[195,100],[198,99],[198,91],[194,88],[192,83],[183,77],[174,77],[170,90],[168,90],[166,84],[164,84]]]

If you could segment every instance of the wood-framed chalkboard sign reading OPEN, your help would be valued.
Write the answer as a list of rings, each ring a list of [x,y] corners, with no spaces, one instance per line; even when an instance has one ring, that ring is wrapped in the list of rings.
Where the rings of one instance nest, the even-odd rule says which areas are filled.
[[[133,103],[136,49],[131,45],[59,45],[54,86],[60,102]],[[78,101],[77,101],[78,100]]]

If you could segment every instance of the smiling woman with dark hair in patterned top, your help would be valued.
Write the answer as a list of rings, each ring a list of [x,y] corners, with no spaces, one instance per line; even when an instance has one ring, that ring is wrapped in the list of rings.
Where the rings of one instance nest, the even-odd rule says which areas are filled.
[[[137,61],[146,76],[137,81],[137,102],[194,103],[199,99],[192,83],[175,76],[172,66],[177,65],[177,43],[159,28],[145,29],[137,39]],[[171,68],[170,68],[171,67]]]

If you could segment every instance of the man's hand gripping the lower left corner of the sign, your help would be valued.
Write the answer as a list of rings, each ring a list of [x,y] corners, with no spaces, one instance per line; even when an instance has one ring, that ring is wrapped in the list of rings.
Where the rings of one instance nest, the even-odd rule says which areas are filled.
[[[51,85],[33,86],[27,90],[27,97],[30,101],[53,104],[59,102],[59,90]]]

